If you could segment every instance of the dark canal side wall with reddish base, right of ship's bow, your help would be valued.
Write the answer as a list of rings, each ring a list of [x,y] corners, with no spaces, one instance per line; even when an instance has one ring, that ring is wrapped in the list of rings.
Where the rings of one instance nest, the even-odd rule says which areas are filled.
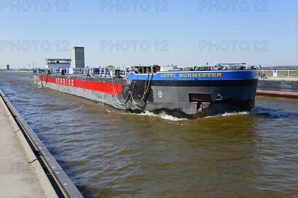
[[[298,78],[259,79],[257,95],[298,98]]]

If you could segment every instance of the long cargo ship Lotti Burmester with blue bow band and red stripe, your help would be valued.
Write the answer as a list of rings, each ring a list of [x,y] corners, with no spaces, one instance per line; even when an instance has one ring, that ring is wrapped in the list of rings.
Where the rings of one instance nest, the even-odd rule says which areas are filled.
[[[71,68],[71,59],[46,61],[50,66],[33,70],[36,85],[116,109],[163,112],[188,119],[254,112],[257,70],[245,62],[194,67]]]

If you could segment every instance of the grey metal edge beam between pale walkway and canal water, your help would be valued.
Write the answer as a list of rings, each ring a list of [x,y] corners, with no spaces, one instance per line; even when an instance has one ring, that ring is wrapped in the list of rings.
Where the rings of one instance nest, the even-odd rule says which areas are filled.
[[[70,180],[67,174],[63,171],[59,163],[50,153],[50,151],[39,140],[37,135],[23,119],[19,112],[15,109],[12,103],[7,99],[4,93],[0,90],[0,97],[3,99],[5,105],[10,111],[12,117],[17,123],[19,129],[22,131],[29,146],[33,150],[36,158],[43,166],[46,175],[48,176],[51,184],[53,185],[57,195],[65,198],[83,198],[74,183]]]

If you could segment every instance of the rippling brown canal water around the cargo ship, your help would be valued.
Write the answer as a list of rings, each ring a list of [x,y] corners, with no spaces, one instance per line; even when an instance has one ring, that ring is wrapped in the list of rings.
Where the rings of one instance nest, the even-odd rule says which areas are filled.
[[[132,114],[0,72],[0,88],[84,197],[297,197],[298,99],[196,120]]]

